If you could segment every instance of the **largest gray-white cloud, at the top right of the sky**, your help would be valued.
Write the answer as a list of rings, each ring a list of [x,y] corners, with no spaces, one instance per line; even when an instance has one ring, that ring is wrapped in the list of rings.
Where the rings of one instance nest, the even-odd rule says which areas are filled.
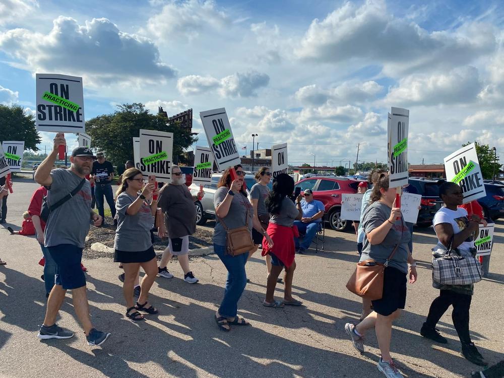
[[[375,61],[384,65],[384,73],[398,77],[468,64],[493,51],[493,31],[473,23],[455,32],[428,32],[392,16],[384,0],[366,0],[361,7],[348,2],[324,20],[314,19],[295,53],[318,62]]]

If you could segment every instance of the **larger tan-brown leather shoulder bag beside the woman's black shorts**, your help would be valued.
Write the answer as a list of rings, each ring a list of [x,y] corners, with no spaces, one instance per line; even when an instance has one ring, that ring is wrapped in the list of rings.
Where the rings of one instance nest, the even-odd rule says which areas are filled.
[[[346,284],[346,288],[352,293],[369,300],[382,299],[383,277],[385,268],[389,266],[389,260],[394,257],[397,244],[384,264],[372,259],[357,263],[357,267]]]

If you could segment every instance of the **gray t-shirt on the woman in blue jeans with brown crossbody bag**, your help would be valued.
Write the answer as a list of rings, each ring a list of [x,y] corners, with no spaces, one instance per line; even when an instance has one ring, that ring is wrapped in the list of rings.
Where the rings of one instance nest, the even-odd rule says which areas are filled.
[[[219,204],[226,198],[229,189],[226,186],[219,187],[214,194],[214,207],[219,206]],[[246,220],[248,209],[248,221]],[[252,218],[254,217],[254,209],[248,198],[243,196],[241,193],[235,194],[233,196],[233,201],[229,206],[229,212],[224,217],[224,223],[226,226],[232,230],[233,228],[247,226],[250,230],[250,235],[252,234]],[[214,227],[214,244],[226,245],[227,234],[226,230],[222,226],[221,222],[217,219]]]

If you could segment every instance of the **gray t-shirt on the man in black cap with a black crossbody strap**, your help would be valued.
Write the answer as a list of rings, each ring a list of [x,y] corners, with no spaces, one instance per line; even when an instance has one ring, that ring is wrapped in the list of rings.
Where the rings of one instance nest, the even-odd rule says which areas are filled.
[[[50,174],[52,184],[47,187],[48,205],[54,205],[70,194],[82,181],[82,178],[70,169],[57,168]],[[91,200],[91,185],[85,180],[81,190],[49,216],[44,231],[46,247],[73,244],[84,248],[91,220]]]

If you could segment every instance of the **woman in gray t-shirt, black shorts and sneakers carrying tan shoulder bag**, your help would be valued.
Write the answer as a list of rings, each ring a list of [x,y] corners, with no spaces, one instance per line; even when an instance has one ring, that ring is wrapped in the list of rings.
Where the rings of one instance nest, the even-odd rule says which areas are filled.
[[[359,324],[347,323],[345,331],[353,346],[364,351],[363,337],[367,330],[374,328],[382,357],[378,369],[387,376],[402,376],[390,356],[392,322],[399,317],[406,304],[406,275],[409,282],[417,278],[416,264],[408,248],[410,233],[404,222],[401,209],[396,207],[396,188],[389,187],[389,174],[381,173],[371,192],[370,205],[364,213],[364,245],[360,261],[385,263],[382,299],[371,301],[373,311]],[[394,249],[395,255],[388,260]],[[393,375],[396,374],[396,375]]]

